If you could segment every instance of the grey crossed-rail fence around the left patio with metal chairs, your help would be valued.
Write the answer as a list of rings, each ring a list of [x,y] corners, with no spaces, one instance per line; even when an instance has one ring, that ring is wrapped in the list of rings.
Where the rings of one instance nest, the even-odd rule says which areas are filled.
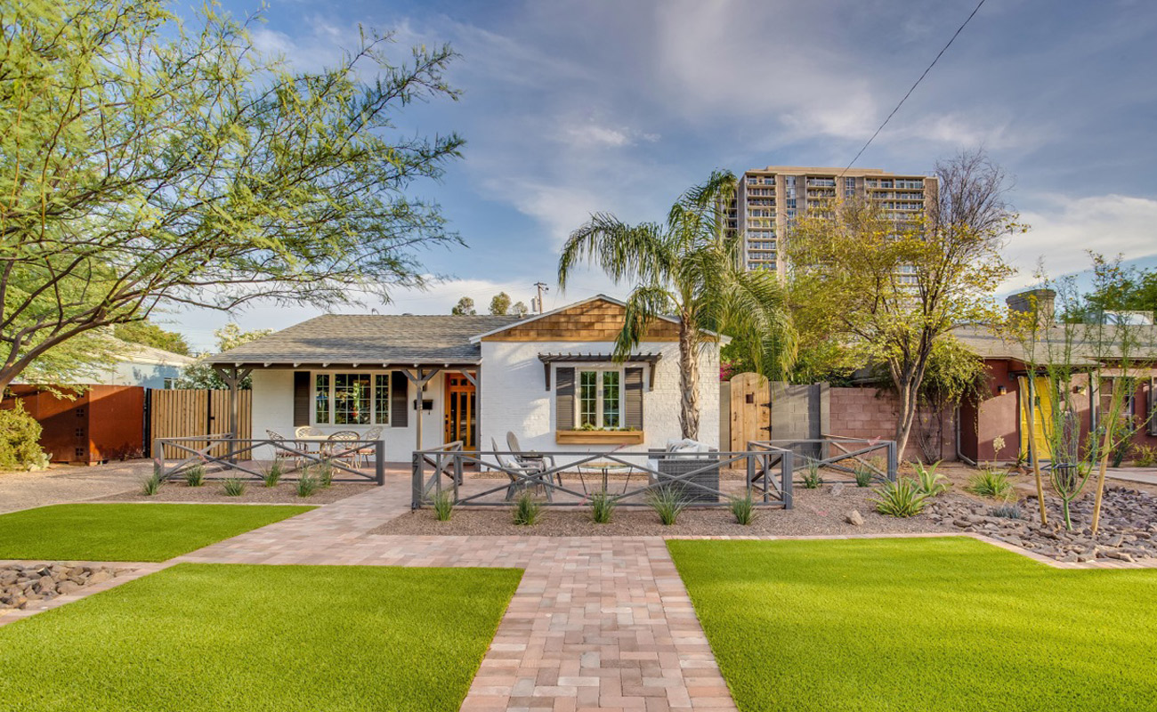
[[[316,449],[309,449],[315,446]],[[273,457],[256,457],[260,448],[271,448]],[[172,479],[193,467],[204,467],[208,474],[243,472],[261,479],[263,462],[282,461],[286,479],[300,479],[310,468],[326,464],[336,476],[333,482],[375,482],[385,484],[385,442],[382,440],[294,441],[234,438],[231,433],[193,435],[189,438],[157,438],[153,441],[153,467],[162,479]],[[177,453],[176,464],[169,464],[162,453]],[[353,467],[363,460],[373,462],[373,474]],[[211,477],[213,479],[213,477]]]

